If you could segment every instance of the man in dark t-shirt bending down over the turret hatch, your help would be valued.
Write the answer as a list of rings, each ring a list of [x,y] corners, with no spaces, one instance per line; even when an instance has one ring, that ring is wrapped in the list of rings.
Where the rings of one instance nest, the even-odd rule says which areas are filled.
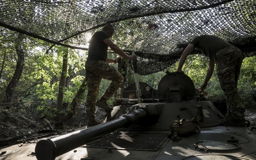
[[[201,90],[204,90],[207,86],[214,71],[214,63],[216,64],[216,72],[220,81],[220,87],[226,96],[228,109],[228,113],[224,119],[220,120],[220,123],[228,126],[245,126],[247,124],[244,118],[245,106],[242,104],[237,89],[240,68],[244,59],[242,52],[216,36],[196,36],[182,53],[177,72],[184,73],[182,66],[186,57],[194,49],[202,51],[204,55],[209,57],[209,67],[206,78],[200,87]]]

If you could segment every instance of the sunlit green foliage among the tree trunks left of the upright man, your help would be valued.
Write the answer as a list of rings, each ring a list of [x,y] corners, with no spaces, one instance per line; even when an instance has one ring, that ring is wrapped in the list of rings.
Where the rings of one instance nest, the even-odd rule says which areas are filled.
[[[0,62],[2,74],[0,77],[0,93],[4,93],[10,82],[16,67],[17,55],[15,51],[15,39],[18,35],[4,28],[0,28]],[[46,50],[52,44],[42,40],[26,37],[22,49],[25,53],[24,70],[18,85],[15,88],[13,101],[42,101],[38,110],[42,116],[53,117],[56,110],[58,96],[58,84],[62,70],[62,57],[67,48],[54,46],[49,52]],[[84,64],[86,53],[69,49],[68,78],[64,93],[64,102],[71,102],[85,76]],[[3,60],[5,58],[5,60]],[[3,95],[0,96],[2,101]],[[47,102],[47,103],[46,103]],[[49,104],[50,103],[50,104]],[[24,103],[27,107],[30,103]],[[26,107],[24,105],[24,107]],[[13,105],[13,107],[16,107]]]

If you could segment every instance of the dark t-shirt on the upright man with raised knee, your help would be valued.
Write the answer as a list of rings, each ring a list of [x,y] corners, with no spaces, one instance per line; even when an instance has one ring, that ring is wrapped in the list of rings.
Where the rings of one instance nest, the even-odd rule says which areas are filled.
[[[104,43],[103,40],[108,38],[108,34],[103,30],[97,31],[92,35],[88,48],[87,60],[106,61],[108,57],[108,45]]]

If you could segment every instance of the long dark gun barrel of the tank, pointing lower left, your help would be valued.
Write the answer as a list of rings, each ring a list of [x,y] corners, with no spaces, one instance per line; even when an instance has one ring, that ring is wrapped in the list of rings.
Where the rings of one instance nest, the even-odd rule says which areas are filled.
[[[136,124],[136,122],[145,118],[147,115],[148,111],[146,108],[138,108],[120,116],[120,118],[103,124],[52,139],[44,138],[36,144],[36,158],[37,160],[54,160],[57,156],[78,148],[79,146],[97,140],[120,128]]]

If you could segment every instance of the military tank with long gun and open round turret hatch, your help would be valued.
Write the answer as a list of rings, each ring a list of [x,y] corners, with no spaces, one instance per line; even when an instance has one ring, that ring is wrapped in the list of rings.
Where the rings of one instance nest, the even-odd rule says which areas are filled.
[[[166,72],[157,89],[130,84],[104,123],[6,143],[0,159],[255,160],[255,128],[223,126],[223,117],[186,74]]]

